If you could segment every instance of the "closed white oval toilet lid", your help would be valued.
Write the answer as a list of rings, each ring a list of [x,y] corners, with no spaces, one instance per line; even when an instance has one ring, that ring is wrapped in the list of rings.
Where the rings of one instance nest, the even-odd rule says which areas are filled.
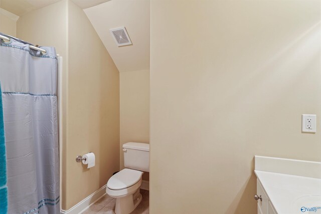
[[[142,172],[133,169],[123,169],[109,178],[107,187],[113,190],[128,188],[139,181]]]

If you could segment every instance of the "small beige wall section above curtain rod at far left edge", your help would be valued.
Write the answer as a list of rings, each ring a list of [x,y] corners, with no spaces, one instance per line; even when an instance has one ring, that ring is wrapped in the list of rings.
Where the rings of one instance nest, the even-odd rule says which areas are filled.
[[[1,1],[0,1],[1,7]],[[16,37],[18,16],[0,8],[0,32]]]

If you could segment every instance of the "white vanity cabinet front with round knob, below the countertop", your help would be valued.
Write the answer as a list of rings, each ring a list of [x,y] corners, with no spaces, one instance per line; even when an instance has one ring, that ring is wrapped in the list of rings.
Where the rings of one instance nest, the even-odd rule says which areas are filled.
[[[256,180],[256,195],[258,214],[277,214],[259,179]]]

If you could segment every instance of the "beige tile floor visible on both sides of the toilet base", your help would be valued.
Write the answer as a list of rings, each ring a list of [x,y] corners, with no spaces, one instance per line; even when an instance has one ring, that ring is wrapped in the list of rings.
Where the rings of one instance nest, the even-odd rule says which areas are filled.
[[[148,214],[149,213],[149,191],[140,189],[142,199],[139,205],[130,214]],[[107,194],[91,205],[82,214],[114,214],[116,199]]]

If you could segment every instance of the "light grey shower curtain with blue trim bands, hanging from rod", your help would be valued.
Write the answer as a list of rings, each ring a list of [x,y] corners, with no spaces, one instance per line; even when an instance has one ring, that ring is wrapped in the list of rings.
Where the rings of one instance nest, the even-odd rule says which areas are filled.
[[[41,47],[47,51],[42,54],[30,49],[31,44],[10,38],[0,40],[8,213],[58,214],[56,51]]]

